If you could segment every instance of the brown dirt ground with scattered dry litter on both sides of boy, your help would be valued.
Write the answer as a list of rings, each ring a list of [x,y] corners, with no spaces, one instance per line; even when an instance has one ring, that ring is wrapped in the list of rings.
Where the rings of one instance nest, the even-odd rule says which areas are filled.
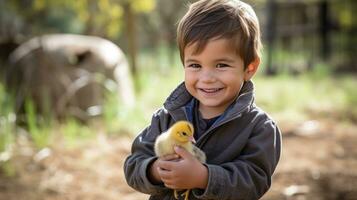
[[[263,200],[357,199],[357,125],[332,119],[280,122],[283,154]],[[0,173],[0,200],[141,200],[129,188],[123,162],[132,138],[99,134],[80,148],[61,144],[34,151],[19,137],[16,175]]]

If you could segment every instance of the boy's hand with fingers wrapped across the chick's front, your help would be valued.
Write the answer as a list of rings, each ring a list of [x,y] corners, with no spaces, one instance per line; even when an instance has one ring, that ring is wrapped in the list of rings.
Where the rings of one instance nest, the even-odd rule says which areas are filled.
[[[181,157],[178,161],[157,160],[158,175],[165,186],[171,189],[205,189],[208,182],[208,170],[191,153],[175,147]]]

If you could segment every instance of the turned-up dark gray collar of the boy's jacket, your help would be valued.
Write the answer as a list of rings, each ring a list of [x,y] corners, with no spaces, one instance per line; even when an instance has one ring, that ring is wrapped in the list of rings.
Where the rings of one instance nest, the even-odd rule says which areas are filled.
[[[191,106],[192,95],[187,91],[185,83],[182,82],[166,99],[164,103],[164,108],[169,112],[175,111],[177,109],[185,110],[186,106]],[[254,84],[252,81],[246,81],[236,98],[236,100],[230,105],[230,107],[224,112],[224,118],[234,117],[254,103]]]

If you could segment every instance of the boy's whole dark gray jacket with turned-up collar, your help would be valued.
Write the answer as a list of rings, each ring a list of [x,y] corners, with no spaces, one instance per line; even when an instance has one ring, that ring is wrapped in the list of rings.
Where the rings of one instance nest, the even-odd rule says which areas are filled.
[[[197,141],[207,156],[208,185],[193,189],[190,199],[259,199],[270,187],[280,158],[281,135],[275,122],[254,104],[254,87],[245,82],[239,97]],[[164,107],[154,113],[150,126],[134,140],[124,164],[125,178],[150,199],[174,199],[173,191],[148,180],[148,166],[156,157],[154,142],[178,120],[187,116],[192,96],[184,84],[176,88]]]

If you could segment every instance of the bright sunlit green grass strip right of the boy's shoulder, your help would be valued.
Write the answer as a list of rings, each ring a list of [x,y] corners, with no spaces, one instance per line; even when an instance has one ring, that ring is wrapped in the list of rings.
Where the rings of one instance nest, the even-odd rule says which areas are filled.
[[[290,120],[309,117],[312,113],[356,117],[357,81],[351,76],[331,77],[316,72],[300,76],[258,76],[256,82],[257,104],[269,113]],[[318,78],[317,78],[318,77]],[[336,117],[329,116],[329,117]]]

